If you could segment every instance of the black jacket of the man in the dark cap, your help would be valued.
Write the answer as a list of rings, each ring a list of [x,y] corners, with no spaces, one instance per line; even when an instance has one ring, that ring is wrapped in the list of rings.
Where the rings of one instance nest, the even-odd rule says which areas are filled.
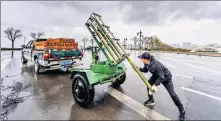
[[[157,61],[153,56],[150,64],[144,64],[144,67],[140,68],[140,71],[145,73],[149,71],[152,74],[152,77],[156,77],[156,80],[154,80],[155,85],[160,85],[161,82],[169,81],[172,77],[171,72],[161,62]]]

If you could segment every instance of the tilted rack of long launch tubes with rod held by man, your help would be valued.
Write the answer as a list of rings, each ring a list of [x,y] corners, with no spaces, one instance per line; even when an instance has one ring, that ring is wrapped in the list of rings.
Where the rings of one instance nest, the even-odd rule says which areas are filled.
[[[110,65],[117,65],[126,58],[147,87],[151,89],[148,80],[133,63],[129,54],[126,53],[124,48],[118,42],[118,39],[114,37],[113,33],[110,31],[110,27],[103,23],[100,15],[92,13],[86,23],[86,27],[91,32],[95,41],[99,43],[98,46],[103,50]]]

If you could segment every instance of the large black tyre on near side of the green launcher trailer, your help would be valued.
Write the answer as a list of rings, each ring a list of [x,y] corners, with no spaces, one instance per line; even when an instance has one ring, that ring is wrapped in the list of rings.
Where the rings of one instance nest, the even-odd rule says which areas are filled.
[[[94,99],[94,86],[89,85],[87,78],[76,74],[72,83],[72,93],[75,101],[83,108],[88,108]]]

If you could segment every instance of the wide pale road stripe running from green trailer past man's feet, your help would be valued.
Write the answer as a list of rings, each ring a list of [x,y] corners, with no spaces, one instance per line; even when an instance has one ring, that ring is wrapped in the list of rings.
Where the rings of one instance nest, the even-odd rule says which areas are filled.
[[[105,89],[105,91],[148,120],[170,120],[112,87]]]

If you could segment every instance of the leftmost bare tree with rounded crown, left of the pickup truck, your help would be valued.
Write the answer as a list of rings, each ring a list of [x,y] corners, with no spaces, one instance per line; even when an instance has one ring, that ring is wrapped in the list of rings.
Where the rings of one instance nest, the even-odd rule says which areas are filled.
[[[4,33],[6,34],[6,37],[12,41],[12,57],[13,57],[14,42],[17,38],[20,38],[22,36],[22,32],[20,29],[14,29],[13,27],[8,27],[6,30],[4,30]]]

